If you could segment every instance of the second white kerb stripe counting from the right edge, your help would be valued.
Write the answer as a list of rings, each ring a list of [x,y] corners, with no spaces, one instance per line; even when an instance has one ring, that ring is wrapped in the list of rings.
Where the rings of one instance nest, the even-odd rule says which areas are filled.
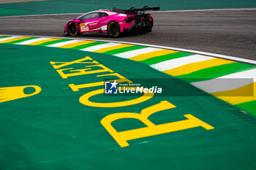
[[[159,71],[165,71],[168,69],[175,69],[179,66],[183,66],[188,63],[196,63],[200,61],[208,61],[214,59],[213,57],[208,57],[205,55],[190,55],[187,57],[182,57],[182,58],[176,58],[173,60],[169,61],[162,61],[161,63],[156,63],[151,65],[152,68],[157,69]]]

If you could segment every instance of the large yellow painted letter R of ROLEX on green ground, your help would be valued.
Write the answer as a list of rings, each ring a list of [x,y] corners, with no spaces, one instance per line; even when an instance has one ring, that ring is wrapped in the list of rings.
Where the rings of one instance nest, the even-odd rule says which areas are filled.
[[[141,114],[132,113],[132,112],[121,112],[114,113],[104,117],[101,120],[102,125],[108,131],[108,133],[116,140],[116,142],[120,145],[120,147],[128,147],[129,143],[127,141],[133,139],[140,139],[143,137],[154,136],[158,134],[166,134],[173,131],[181,131],[188,128],[195,127],[203,127],[206,130],[213,129],[211,125],[204,123],[202,120],[199,120],[197,117],[193,115],[184,115],[187,117],[186,120],[180,120],[173,123],[164,123],[161,125],[155,125],[148,117],[155,112],[159,112],[165,109],[172,109],[176,106],[170,104],[168,101],[161,101],[159,104],[155,104],[154,106],[148,107],[141,111]],[[140,120],[142,123],[147,125],[145,128],[137,128],[129,131],[116,131],[115,128],[111,125],[113,121],[120,120],[124,118],[134,118]]]

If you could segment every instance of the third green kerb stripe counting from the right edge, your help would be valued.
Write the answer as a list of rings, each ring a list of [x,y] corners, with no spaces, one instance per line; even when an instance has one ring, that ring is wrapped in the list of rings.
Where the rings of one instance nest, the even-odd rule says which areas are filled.
[[[172,54],[167,54],[167,55],[160,55],[160,56],[157,56],[157,57],[154,57],[154,58],[148,58],[148,59],[146,59],[144,61],[140,61],[140,62],[151,65],[151,64],[155,64],[155,63],[160,63],[162,61],[172,60],[172,59],[175,59],[175,58],[187,57],[189,55],[195,55],[195,54],[178,52],[178,53],[172,53]]]

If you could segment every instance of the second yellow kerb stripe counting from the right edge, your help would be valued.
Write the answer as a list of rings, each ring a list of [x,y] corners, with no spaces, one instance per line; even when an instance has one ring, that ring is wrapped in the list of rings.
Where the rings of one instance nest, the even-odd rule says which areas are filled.
[[[196,63],[187,63],[184,66],[179,66],[175,69],[169,69],[164,71],[164,73],[172,75],[172,76],[179,76],[183,74],[189,74],[192,72],[196,72],[200,69],[206,69],[213,66],[220,66],[227,63],[236,63],[235,61],[227,61],[220,58],[214,58],[208,61],[200,61]]]

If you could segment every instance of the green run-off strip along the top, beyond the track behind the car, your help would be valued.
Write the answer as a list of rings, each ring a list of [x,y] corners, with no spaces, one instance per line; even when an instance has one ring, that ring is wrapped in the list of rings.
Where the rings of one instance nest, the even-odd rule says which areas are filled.
[[[84,13],[97,9],[110,9],[113,7],[129,9],[130,7],[160,7],[161,10],[177,9],[219,9],[219,8],[244,8],[256,7],[255,0],[49,0],[31,1],[23,3],[0,4],[0,15],[35,15],[58,13]]]

